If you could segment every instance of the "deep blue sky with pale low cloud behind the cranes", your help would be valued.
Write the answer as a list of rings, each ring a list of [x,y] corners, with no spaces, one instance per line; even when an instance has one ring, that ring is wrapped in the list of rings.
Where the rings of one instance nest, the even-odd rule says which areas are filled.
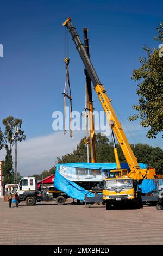
[[[92,63],[116,111],[133,132],[135,141],[162,148],[161,135],[157,139],[147,139],[146,130],[140,127],[139,122],[128,121],[129,115],[135,113],[131,106],[138,99],[137,83],[130,77],[133,69],[140,66],[138,58],[145,54],[143,45],[158,47],[153,37],[156,26],[162,21],[162,13],[162,1],[158,0],[1,2],[0,43],[4,47],[4,57],[0,58],[0,126],[8,115],[21,118],[26,143],[31,142],[32,147],[35,139],[46,141],[49,136],[54,136],[54,141],[50,139],[51,147],[47,141],[42,146],[54,154],[48,162],[46,156],[43,158],[42,150],[41,166],[36,164],[33,167],[37,173],[40,168],[40,171],[50,168],[62,152],[72,151],[83,136],[79,132],[74,141],[67,137],[70,148],[66,147],[66,151],[63,133],[52,130],[53,111],[63,111],[65,28],[62,22],[67,17],[72,17],[82,40],[83,27],[89,29]],[[84,66],[70,35],[68,41],[73,110],[81,112],[85,100]],[[95,92],[93,100],[95,109],[102,110]],[[57,144],[55,136],[60,138]],[[134,143],[130,136],[128,138],[130,143]],[[26,151],[26,144],[23,147]],[[58,150],[58,147],[63,150]],[[30,147],[28,149],[30,151]],[[35,150],[38,151],[37,148]],[[1,151],[0,158],[3,156]],[[30,159],[31,155],[28,157]],[[29,172],[32,165],[27,168],[23,161],[20,159],[23,172]]]

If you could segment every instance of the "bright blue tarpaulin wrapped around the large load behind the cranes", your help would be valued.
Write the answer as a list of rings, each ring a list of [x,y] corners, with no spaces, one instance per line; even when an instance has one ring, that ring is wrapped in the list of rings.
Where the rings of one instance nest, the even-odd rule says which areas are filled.
[[[117,168],[116,163],[63,163],[61,165],[69,166],[69,167],[78,167],[78,168],[92,168],[92,169],[115,169]],[[83,187],[80,187],[75,182],[70,181],[66,179],[64,176],[62,176],[59,173],[59,166],[57,165],[55,170],[55,179],[54,179],[54,187],[56,187],[58,190],[63,191],[66,193],[69,197],[84,201],[85,195],[87,197],[93,197],[94,194],[85,190]],[[140,163],[140,168],[146,168],[146,164]],[[121,163],[121,168],[129,169],[127,163]]]

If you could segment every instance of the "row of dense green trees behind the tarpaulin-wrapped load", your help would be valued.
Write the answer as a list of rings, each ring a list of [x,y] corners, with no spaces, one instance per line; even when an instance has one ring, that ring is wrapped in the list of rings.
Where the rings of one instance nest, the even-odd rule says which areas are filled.
[[[58,163],[87,162],[87,149],[83,138],[73,153],[58,157]],[[120,145],[116,145],[120,162],[126,162]],[[147,144],[131,144],[139,163],[146,163],[149,167],[156,168],[158,174],[163,174],[163,150],[153,148]],[[81,155],[80,155],[81,154]],[[101,133],[96,135],[96,157],[98,163],[115,162],[112,142]]]

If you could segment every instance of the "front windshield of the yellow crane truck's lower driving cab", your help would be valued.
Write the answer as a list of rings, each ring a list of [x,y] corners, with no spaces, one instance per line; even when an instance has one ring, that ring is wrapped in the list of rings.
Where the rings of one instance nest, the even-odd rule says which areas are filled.
[[[105,180],[104,188],[132,188],[133,181],[131,179],[116,179],[116,180]]]

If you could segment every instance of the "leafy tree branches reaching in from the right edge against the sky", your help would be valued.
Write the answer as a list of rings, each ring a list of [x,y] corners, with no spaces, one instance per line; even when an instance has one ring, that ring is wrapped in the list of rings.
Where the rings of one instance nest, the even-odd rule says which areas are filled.
[[[156,28],[158,35],[155,40],[163,42],[163,23]],[[137,85],[139,104],[133,105],[139,113],[129,117],[130,121],[140,118],[143,127],[149,127],[148,138],[156,138],[163,130],[163,54],[160,49],[151,50],[144,46],[147,58],[140,57],[141,67],[133,71],[132,79],[140,81]],[[162,136],[163,137],[163,136]]]

